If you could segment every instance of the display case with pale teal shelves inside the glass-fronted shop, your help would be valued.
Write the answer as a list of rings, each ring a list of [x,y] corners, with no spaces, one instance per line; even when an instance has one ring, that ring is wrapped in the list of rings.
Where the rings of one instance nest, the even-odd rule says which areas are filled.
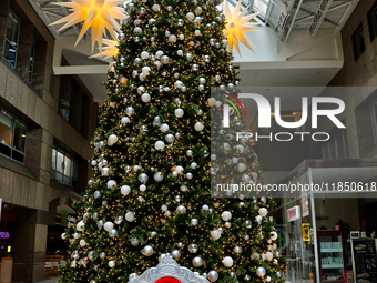
[[[320,282],[344,282],[342,231],[318,231]]]

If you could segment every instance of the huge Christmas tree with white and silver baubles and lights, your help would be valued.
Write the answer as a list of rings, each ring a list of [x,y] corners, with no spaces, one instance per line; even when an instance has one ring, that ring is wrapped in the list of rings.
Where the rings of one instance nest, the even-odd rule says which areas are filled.
[[[252,146],[232,130],[222,130],[226,146],[211,145],[211,112],[226,101],[211,99],[211,88],[237,84],[217,4],[128,4],[93,141],[93,179],[75,204],[78,224],[63,234],[70,257],[60,282],[128,282],[164,253],[212,282],[283,282],[274,201],[211,193],[215,172],[262,182]],[[220,169],[222,146],[230,161]]]

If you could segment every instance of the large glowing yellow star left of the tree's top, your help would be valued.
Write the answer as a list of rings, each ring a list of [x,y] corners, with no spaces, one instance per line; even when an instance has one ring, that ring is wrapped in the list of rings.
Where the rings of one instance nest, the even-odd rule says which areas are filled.
[[[67,29],[73,24],[84,21],[78,40],[91,28],[92,34],[92,52],[95,40],[98,40],[99,49],[102,50],[102,34],[105,29],[110,32],[113,39],[116,39],[115,31],[121,32],[121,28],[115,19],[123,19],[125,17],[124,9],[116,7],[124,3],[124,0],[71,0],[71,2],[53,2],[53,4],[71,8],[73,11],[69,16],[51,23],[59,24],[67,22],[58,31]],[[114,31],[115,30],[115,31]]]

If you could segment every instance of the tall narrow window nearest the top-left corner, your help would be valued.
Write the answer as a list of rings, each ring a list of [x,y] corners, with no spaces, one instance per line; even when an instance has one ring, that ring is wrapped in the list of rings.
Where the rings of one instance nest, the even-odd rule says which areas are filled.
[[[12,11],[10,11],[7,20],[4,59],[13,67],[16,67],[19,33],[20,20]]]

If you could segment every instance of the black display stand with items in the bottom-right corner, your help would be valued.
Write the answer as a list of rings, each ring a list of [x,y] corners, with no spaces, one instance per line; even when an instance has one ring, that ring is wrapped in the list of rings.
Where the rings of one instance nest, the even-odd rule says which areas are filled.
[[[377,283],[376,240],[351,240],[355,282]]]

